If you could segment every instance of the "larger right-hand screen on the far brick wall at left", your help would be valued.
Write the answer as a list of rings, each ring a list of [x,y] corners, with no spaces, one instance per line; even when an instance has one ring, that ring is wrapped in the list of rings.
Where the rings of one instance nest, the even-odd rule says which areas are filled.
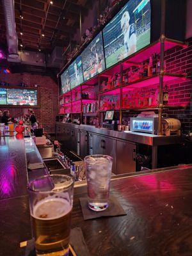
[[[32,89],[6,89],[8,105],[37,106],[37,91]]]

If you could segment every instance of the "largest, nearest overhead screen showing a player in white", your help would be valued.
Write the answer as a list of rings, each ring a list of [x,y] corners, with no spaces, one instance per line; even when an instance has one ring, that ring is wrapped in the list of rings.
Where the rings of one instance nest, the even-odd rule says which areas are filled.
[[[106,68],[150,44],[150,0],[129,0],[103,29]]]

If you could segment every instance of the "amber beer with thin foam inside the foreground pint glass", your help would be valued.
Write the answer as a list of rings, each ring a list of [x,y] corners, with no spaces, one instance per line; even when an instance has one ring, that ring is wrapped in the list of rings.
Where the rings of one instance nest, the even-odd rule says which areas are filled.
[[[38,202],[33,209],[33,230],[37,255],[66,255],[72,207],[63,198]]]

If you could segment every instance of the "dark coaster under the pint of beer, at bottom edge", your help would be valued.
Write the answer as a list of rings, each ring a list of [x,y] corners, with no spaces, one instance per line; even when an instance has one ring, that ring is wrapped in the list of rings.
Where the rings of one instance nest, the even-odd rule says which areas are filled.
[[[36,256],[34,238],[27,241],[25,256]],[[81,228],[70,230],[70,252],[68,256],[90,256]]]

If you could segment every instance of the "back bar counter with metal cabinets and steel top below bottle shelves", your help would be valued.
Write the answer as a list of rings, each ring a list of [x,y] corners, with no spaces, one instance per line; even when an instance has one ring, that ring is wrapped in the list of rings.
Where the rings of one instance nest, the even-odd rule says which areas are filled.
[[[183,140],[182,136],[178,135],[159,136],[144,132],[112,131],[92,125],[63,122],[56,122],[56,139],[65,145],[65,148],[73,150],[82,158],[90,154],[113,156],[113,173],[115,174],[140,170],[137,167],[136,155],[145,155],[148,150],[150,151],[148,156],[151,159],[148,168],[177,165],[179,163],[175,164],[174,159],[172,163],[162,164],[164,161],[169,162],[170,159],[166,159],[165,155],[162,159],[161,148],[163,147],[163,152],[166,149],[174,152]]]

